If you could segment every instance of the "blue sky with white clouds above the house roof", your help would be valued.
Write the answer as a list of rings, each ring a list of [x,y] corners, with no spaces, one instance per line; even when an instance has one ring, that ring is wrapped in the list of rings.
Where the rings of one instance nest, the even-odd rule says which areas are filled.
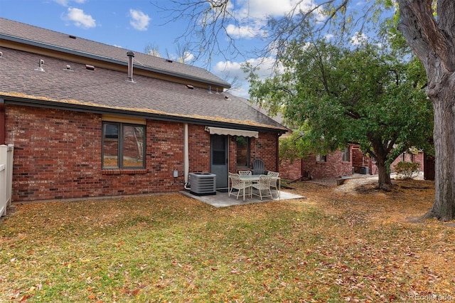
[[[258,37],[262,35],[264,16],[283,16],[299,1],[304,8],[313,5],[313,0],[231,0],[229,10],[245,23],[229,24],[228,32],[247,54],[253,47],[261,47]],[[0,16],[141,53],[146,52],[146,46],[154,46],[161,57],[178,60],[175,39],[188,26],[188,20],[178,18],[166,23],[166,14],[153,3],[171,0],[0,0]],[[218,40],[225,43],[223,38]],[[195,54],[186,55],[186,61],[191,62]],[[262,62],[262,77],[270,74],[274,63],[273,58],[246,55],[231,59],[215,56],[210,67],[198,61],[191,64],[207,68],[228,82],[237,77],[239,87],[230,92],[248,97],[248,83],[241,70],[245,61],[253,65]]]

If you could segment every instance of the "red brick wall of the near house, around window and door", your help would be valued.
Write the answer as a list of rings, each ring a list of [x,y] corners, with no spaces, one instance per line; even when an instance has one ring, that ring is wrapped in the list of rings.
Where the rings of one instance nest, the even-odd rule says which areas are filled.
[[[182,123],[147,120],[146,168],[128,170],[101,168],[101,125],[97,114],[6,105],[6,144],[15,146],[13,201],[183,189]],[[210,171],[210,134],[204,128],[188,125],[190,172]],[[275,163],[274,139],[266,133],[252,140],[252,153],[260,154],[267,169]],[[230,167],[235,167],[236,145],[229,148]]]

